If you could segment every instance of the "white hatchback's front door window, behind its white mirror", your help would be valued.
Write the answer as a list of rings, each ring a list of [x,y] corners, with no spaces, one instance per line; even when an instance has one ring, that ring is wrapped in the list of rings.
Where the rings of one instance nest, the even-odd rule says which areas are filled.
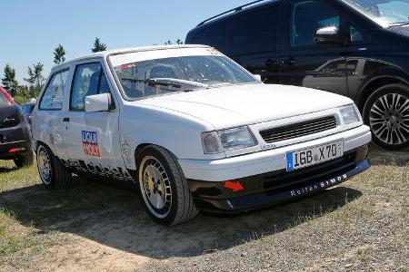
[[[85,96],[98,94],[101,72],[101,63],[86,63],[76,67],[71,110],[83,111]]]

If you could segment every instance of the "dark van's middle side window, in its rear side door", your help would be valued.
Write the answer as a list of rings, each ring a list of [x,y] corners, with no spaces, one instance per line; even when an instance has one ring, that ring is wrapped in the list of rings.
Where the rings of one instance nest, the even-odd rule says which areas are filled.
[[[275,51],[278,5],[234,17],[229,23],[228,52],[231,54]]]

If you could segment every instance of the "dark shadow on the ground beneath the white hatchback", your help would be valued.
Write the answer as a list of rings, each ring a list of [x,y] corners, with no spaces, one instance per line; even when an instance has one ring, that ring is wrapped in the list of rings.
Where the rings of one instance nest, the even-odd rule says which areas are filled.
[[[58,229],[133,254],[163,259],[192,257],[274,235],[316,219],[360,198],[356,189],[336,187],[304,199],[236,216],[201,213],[175,227],[157,225],[135,190],[91,180],[70,189],[42,185],[5,191],[0,207],[40,232]]]

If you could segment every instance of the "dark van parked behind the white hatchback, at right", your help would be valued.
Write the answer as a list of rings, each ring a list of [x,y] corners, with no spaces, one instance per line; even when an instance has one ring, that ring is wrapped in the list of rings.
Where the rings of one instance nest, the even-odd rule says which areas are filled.
[[[409,146],[409,0],[255,1],[198,24],[207,44],[264,83],[354,99],[374,142]]]

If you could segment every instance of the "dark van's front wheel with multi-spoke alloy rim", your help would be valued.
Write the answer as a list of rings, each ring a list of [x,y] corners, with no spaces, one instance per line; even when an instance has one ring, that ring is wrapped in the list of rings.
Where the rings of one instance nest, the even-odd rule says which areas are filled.
[[[389,84],[377,89],[364,105],[364,123],[373,142],[385,150],[409,147],[409,87]]]

